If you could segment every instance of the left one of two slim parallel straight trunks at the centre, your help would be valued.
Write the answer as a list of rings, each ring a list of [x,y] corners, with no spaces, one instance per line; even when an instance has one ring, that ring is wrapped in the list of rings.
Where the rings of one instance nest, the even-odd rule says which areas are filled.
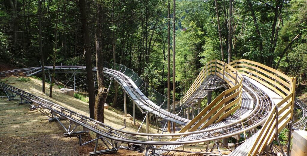
[[[171,101],[170,101],[170,98],[171,98],[171,68],[170,68],[170,55],[171,55],[171,52],[170,52],[170,18],[169,18],[169,14],[171,12],[170,10],[170,0],[168,0],[168,4],[167,4],[167,111],[170,112],[170,105],[171,105]],[[167,130],[169,132],[171,132],[171,123],[170,121],[167,121]]]

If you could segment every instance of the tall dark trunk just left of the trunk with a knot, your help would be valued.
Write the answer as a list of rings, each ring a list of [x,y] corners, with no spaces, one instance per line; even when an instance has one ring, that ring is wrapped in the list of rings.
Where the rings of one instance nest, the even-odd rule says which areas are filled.
[[[94,89],[94,79],[93,79],[93,68],[91,60],[91,40],[89,36],[89,31],[87,27],[87,13],[85,0],[79,0],[78,7],[80,9],[80,17],[82,24],[82,36],[84,38],[84,52],[85,52],[85,64],[86,64],[86,77],[88,86],[88,98],[89,98],[89,108],[90,108],[90,118],[95,118],[95,89]]]

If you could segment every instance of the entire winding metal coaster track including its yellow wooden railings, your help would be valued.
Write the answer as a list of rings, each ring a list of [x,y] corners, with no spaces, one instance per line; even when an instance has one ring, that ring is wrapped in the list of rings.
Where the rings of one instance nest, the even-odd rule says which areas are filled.
[[[207,96],[207,90],[228,86],[216,99],[207,105],[192,120],[166,111],[167,98],[150,88],[133,70],[115,63],[104,63],[104,73],[117,81],[130,99],[144,112],[183,125],[176,134],[147,134],[116,129],[96,120],[90,119],[55,103],[26,93],[13,86],[0,83],[5,92],[15,93],[28,102],[32,108],[48,109],[54,116],[68,119],[76,127],[82,126],[101,137],[113,141],[139,145],[151,154],[163,154],[183,144],[213,141],[215,145],[207,146],[203,154],[218,152],[220,141],[234,137],[245,138],[244,143],[233,150],[232,155],[256,155],[269,145],[275,135],[293,120],[295,78],[289,78],[278,70],[249,60],[236,60],[229,65],[219,60],[212,60],[204,67],[188,92],[180,102],[175,102],[180,114],[182,108],[191,107],[197,99]],[[47,73],[51,66],[45,67]],[[83,66],[56,66],[56,73],[84,73]],[[96,68],[93,68],[96,71]],[[41,67],[24,68],[0,72],[0,76],[20,74],[31,76],[41,72]],[[301,103],[299,106],[303,106]],[[304,109],[303,109],[304,110]],[[147,113],[147,114],[148,114]],[[304,114],[303,114],[304,117]],[[59,120],[58,120],[59,121]],[[301,126],[305,120],[295,125]],[[260,130],[256,127],[262,126]],[[277,131],[275,131],[275,129]],[[66,129],[67,130],[67,129]],[[71,133],[74,130],[67,130]],[[264,135],[259,135],[264,134]],[[276,138],[276,137],[275,137]],[[96,139],[97,140],[97,139]],[[95,141],[95,140],[94,140]],[[261,142],[261,144],[257,144]],[[116,144],[112,142],[113,144]],[[237,143],[239,144],[239,143]],[[156,146],[161,145],[157,148]],[[224,145],[227,146],[227,145]],[[243,146],[247,150],[242,150]],[[117,145],[113,147],[117,150]],[[213,150],[217,148],[217,150]],[[241,149],[241,150],[240,150]],[[142,151],[142,150],[140,150]],[[230,154],[230,155],[231,155]]]

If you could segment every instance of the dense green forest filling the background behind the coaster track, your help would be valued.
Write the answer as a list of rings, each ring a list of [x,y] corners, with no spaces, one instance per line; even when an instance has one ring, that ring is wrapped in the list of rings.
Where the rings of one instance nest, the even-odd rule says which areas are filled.
[[[170,0],[0,0],[0,59],[18,67],[54,63],[89,67],[101,64],[97,57],[126,65],[165,95],[169,61],[171,84],[171,73],[176,73],[175,100],[212,59],[250,59],[298,76],[299,83],[304,79],[307,0],[177,0],[173,25],[174,4]],[[91,73],[87,76],[93,79]],[[103,77],[99,81],[103,86]],[[105,89],[99,89],[99,97]],[[118,92],[118,85],[113,85],[114,107],[122,98]],[[89,96],[95,96],[90,87]]]

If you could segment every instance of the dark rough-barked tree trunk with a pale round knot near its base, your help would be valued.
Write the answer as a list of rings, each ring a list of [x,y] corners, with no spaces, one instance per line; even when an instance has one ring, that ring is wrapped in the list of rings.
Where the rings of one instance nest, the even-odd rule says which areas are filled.
[[[102,54],[102,4],[97,1],[97,19],[96,19],[96,66],[97,66],[97,82],[98,82],[98,94],[95,101],[95,120],[98,120],[103,123],[104,116],[104,103],[107,99],[108,89],[104,86],[103,78],[103,54]]]

